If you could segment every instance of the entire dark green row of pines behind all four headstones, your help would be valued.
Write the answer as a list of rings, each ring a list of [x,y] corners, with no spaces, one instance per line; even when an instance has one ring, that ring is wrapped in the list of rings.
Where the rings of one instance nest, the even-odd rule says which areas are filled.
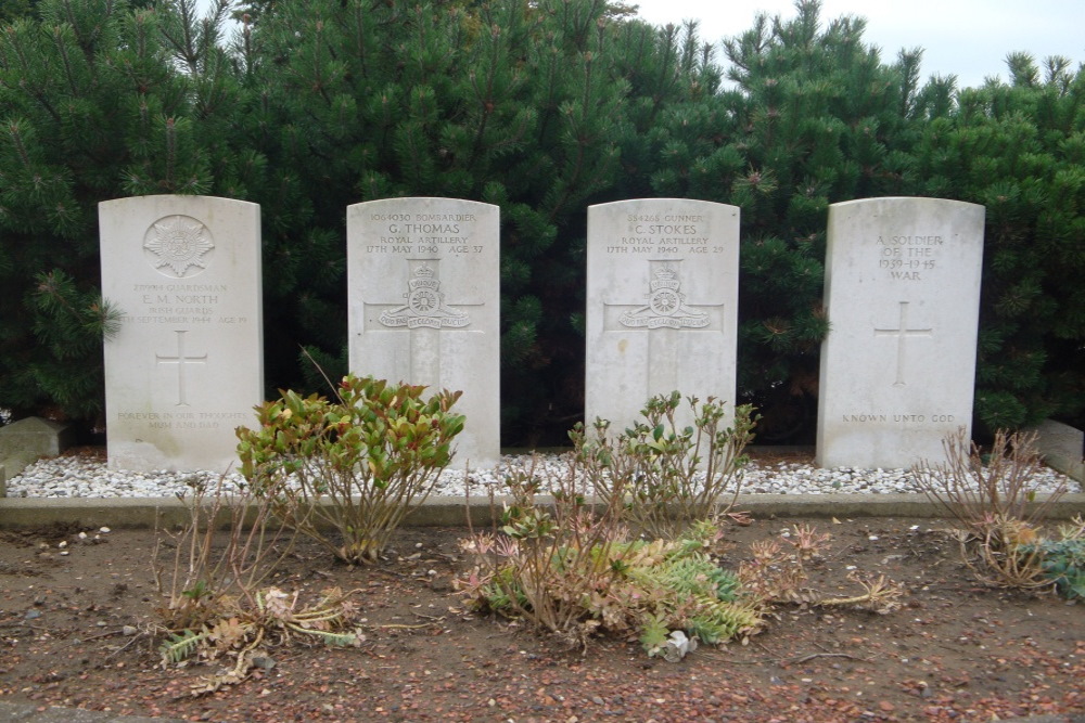
[[[268,388],[346,373],[345,208],[501,208],[505,443],[583,413],[586,207],[741,206],[739,391],[765,441],[813,439],[829,204],[987,208],[978,419],[1085,410],[1085,74],[920,81],[864,22],[800,0],[717,49],[605,0],[24,0],[0,14],[0,408],[101,411],[97,204],[260,204]],[[227,38],[227,18],[241,21]],[[302,349],[306,353],[302,352]],[[365,370],[355,370],[365,373]],[[805,437],[804,437],[805,435]]]

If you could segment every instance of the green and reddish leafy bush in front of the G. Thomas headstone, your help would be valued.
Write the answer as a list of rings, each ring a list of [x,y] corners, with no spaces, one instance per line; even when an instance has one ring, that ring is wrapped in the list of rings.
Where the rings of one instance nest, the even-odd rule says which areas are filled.
[[[452,459],[459,391],[343,378],[334,402],[284,391],[238,430],[241,470],[286,526],[350,563],[375,560]],[[339,533],[331,537],[328,529]]]

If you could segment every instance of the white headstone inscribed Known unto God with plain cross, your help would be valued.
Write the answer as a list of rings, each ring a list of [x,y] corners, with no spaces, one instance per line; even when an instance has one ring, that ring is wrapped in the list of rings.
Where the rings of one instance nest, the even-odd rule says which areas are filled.
[[[941,198],[829,207],[817,460],[945,460],[971,428],[984,208]]]

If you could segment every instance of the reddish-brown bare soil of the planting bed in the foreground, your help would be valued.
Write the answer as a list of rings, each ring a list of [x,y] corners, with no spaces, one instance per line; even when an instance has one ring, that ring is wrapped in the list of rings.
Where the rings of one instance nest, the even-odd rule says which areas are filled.
[[[730,527],[727,565],[790,521]],[[371,567],[339,565],[302,544],[276,584],[359,589],[367,641],[273,648],[273,668],[205,697],[189,687],[214,668],[163,669],[148,632],[159,602],[153,532],[119,530],[100,541],[93,531],[80,540],[76,528],[0,532],[0,698],[213,721],[1085,715],[1085,606],[981,585],[941,522],[818,527],[832,541],[813,588],[856,594],[846,580],[856,566],[904,584],[905,607],[877,616],[782,606],[748,645],[702,646],[678,663],[649,659],[622,640],[570,650],[464,611],[451,590],[468,566],[457,544],[463,530],[404,529]],[[126,625],[140,632],[125,635]]]

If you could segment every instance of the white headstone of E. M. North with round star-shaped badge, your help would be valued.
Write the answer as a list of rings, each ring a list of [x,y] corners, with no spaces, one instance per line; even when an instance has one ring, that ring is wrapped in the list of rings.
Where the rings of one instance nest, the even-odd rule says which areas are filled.
[[[207,196],[99,205],[108,464],[225,472],[264,399],[260,212]]]

